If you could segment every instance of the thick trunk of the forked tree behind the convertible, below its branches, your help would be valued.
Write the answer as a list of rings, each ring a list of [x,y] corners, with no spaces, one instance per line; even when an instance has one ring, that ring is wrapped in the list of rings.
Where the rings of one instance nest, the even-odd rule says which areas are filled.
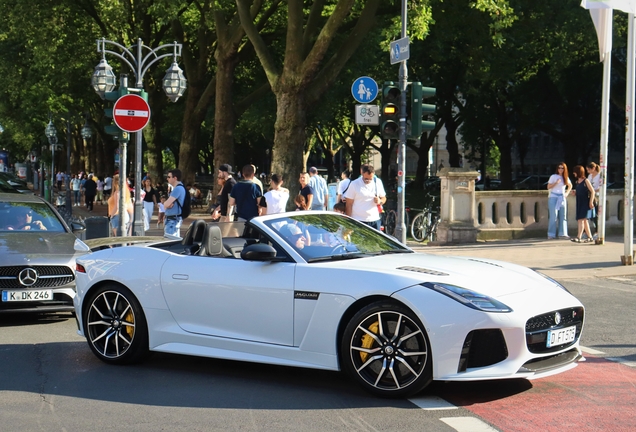
[[[290,196],[295,197],[300,190],[298,176],[305,171],[303,150],[307,139],[307,112],[299,91],[277,94],[276,104],[272,172],[283,173]],[[294,200],[290,199],[287,208],[291,209],[293,205]]]

